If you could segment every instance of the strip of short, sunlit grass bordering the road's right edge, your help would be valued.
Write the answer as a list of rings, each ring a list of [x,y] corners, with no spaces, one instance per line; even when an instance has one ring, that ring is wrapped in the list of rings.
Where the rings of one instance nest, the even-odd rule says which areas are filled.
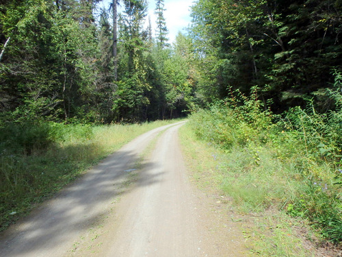
[[[191,178],[196,185],[205,192],[224,191],[219,194],[226,193],[230,197],[224,198],[231,199],[226,202],[226,209],[245,214],[239,213],[241,219],[232,219],[237,222],[235,232],[238,230],[244,238],[236,242],[244,256],[314,256],[315,250],[303,247],[302,237],[295,229],[304,229],[303,225],[295,223],[285,212],[276,212],[272,206],[261,206],[265,193],[250,191],[251,186],[259,185],[255,180],[260,174],[250,174],[254,180],[241,180],[246,175],[243,168],[254,162],[245,157],[244,151],[226,151],[198,139],[189,123],[181,127],[179,135],[187,168],[192,171]],[[240,171],[242,174],[237,177]],[[235,180],[236,185],[226,183],[228,180]]]

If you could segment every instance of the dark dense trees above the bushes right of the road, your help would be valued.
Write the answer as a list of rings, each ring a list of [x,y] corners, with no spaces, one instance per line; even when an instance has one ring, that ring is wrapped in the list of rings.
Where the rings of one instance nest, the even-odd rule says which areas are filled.
[[[261,88],[276,112],[331,108],[326,88],[342,68],[340,0],[198,0],[190,35],[204,101]]]

